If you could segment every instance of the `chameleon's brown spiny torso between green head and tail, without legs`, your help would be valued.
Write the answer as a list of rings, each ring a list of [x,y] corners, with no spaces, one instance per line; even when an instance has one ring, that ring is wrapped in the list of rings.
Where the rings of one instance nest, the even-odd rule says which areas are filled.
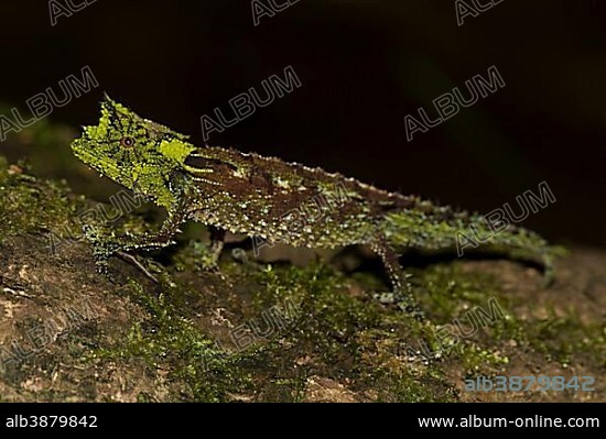
[[[369,244],[386,213],[413,198],[278,158],[206,147],[185,161],[191,218],[296,246]]]

